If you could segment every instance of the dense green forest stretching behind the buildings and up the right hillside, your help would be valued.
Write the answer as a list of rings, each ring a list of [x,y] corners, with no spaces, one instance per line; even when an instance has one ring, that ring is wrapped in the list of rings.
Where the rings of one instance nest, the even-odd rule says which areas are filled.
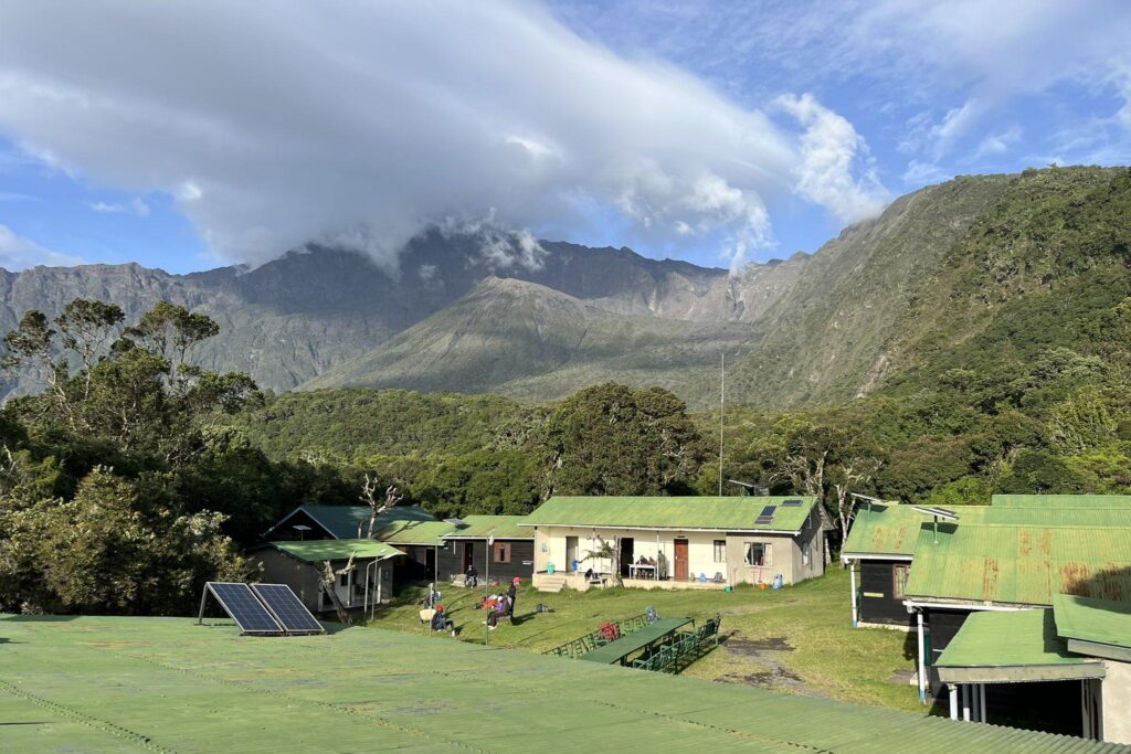
[[[1019,176],[897,324],[856,398],[771,410],[739,381],[725,493],[814,494],[835,519],[852,492],[1131,493],[1131,173]],[[661,388],[276,396],[195,363],[217,332],[164,302],[127,322],[76,300],[8,333],[3,369],[46,387],[0,411],[0,609],[184,613],[204,580],[254,575],[247,548],[282,513],[356,503],[365,475],[439,517],[719,488],[718,410]]]

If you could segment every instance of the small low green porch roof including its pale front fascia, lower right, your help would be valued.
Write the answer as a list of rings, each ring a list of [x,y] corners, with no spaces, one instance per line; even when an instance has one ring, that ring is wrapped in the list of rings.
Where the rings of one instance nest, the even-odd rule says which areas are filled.
[[[1098,660],[1068,651],[1051,609],[972,613],[935,661],[947,683],[1103,677]]]

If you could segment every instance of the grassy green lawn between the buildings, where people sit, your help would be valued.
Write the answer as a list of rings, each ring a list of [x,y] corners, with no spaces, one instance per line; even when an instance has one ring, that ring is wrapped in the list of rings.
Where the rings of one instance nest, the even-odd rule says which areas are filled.
[[[460,627],[459,640],[483,643],[485,615],[474,609],[486,589],[442,588],[444,610]],[[373,625],[426,634],[411,589],[382,608]],[[535,614],[543,603],[553,613]],[[705,619],[723,615],[723,645],[683,675],[777,691],[828,696],[862,704],[925,711],[915,686],[895,683],[898,671],[914,670],[914,634],[882,629],[853,629],[848,574],[829,573],[778,591],[740,588],[733,592],[698,590],[605,589],[543,593],[526,587],[518,595],[517,624],[491,632],[495,647],[541,652],[654,606],[663,617]],[[437,634],[435,641],[452,641]]]

